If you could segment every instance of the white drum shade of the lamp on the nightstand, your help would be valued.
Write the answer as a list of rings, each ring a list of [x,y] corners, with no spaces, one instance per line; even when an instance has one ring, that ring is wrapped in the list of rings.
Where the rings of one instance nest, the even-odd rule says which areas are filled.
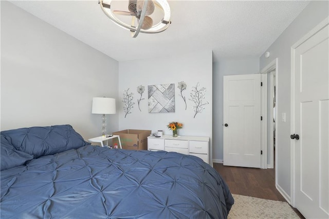
[[[92,114],[116,114],[115,99],[94,97]]]

